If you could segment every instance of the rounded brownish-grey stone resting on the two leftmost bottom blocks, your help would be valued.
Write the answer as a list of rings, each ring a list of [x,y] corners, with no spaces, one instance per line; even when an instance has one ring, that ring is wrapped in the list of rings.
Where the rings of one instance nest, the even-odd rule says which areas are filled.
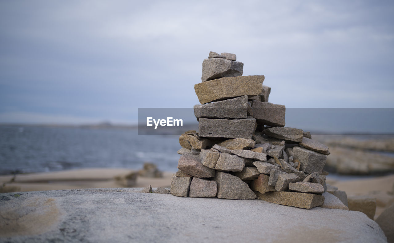
[[[215,176],[215,170],[201,164],[200,156],[193,154],[182,154],[178,160],[178,169],[198,178]]]

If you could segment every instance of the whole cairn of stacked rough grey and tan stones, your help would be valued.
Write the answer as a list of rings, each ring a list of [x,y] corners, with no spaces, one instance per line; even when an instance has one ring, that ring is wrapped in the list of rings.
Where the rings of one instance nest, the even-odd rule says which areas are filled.
[[[327,191],[328,147],[310,132],[284,127],[285,106],[268,102],[264,76],[242,76],[236,55],[210,52],[194,85],[199,132],[180,135],[172,195],[261,199],[313,208]]]

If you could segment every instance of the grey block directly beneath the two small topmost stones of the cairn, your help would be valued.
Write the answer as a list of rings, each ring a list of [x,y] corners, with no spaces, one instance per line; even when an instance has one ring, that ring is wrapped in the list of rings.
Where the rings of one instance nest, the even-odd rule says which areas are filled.
[[[221,55],[222,56],[222,55]],[[208,58],[203,61],[203,75],[201,81],[205,82],[223,77],[242,76],[243,63],[223,58]]]

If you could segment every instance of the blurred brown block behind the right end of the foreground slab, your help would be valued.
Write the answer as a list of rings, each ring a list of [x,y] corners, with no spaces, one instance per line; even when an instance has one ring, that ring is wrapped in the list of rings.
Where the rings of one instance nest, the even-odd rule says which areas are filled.
[[[365,213],[368,218],[374,220],[376,211],[376,198],[369,196],[349,196],[348,208],[352,211]]]

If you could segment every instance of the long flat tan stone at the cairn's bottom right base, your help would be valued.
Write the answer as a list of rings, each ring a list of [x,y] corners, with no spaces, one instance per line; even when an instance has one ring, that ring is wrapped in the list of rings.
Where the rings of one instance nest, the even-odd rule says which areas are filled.
[[[323,205],[324,197],[312,193],[293,191],[271,191],[267,193],[255,192],[258,199],[297,208],[314,208]]]

